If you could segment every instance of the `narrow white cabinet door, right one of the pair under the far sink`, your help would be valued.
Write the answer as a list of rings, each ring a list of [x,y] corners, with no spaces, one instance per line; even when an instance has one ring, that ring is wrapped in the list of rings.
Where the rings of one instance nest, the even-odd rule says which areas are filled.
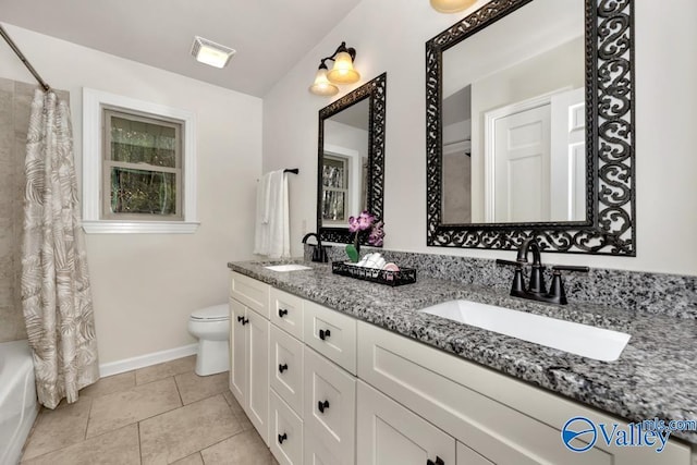
[[[247,309],[249,371],[245,412],[264,442],[269,443],[269,320]]]

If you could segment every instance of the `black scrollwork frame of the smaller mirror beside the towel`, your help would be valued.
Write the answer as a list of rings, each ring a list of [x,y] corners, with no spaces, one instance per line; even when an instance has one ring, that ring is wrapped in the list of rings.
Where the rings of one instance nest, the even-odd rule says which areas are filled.
[[[319,131],[317,137],[317,232],[322,242],[351,243],[352,233],[346,228],[322,227],[322,157],[325,155],[325,120],[340,111],[368,100],[368,167],[367,206],[376,217],[376,221],[383,218],[383,192],[384,192],[384,113],[388,73],[382,73],[352,90],[337,101],[319,110]],[[362,236],[362,244],[367,244],[367,238]]]

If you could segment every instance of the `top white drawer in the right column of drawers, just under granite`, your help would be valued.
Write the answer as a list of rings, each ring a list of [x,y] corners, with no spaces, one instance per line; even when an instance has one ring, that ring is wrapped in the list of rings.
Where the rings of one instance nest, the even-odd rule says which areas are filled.
[[[304,302],[305,343],[356,374],[356,320],[314,302]]]

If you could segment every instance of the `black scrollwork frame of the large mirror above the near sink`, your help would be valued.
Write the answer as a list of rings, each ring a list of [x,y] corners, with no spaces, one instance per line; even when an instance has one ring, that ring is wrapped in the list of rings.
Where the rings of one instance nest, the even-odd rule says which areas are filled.
[[[534,0],[491,0],[426,42],[428,246],[636,256],[633,0],[585,1],[586,220],[442,224],[442,53]]]

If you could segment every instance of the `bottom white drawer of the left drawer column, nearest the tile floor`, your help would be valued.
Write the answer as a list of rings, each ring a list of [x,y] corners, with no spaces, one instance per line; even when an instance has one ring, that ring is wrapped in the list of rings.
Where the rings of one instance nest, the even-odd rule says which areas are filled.
[[[269,391],[269,449],[279,464],[303,463],[303,420],[291,407]]]

